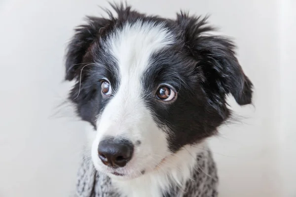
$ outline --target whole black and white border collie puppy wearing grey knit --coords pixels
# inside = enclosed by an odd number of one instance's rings
[[[230,117],[228,94],[252,101],[234,44],[206,18],[112,7],[75,29],[66,54],[69,99],[92,126],[76,196],[216,197],[206,139]]]

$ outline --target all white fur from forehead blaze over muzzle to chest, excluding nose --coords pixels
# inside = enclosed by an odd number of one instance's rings
[[[150,65],[150,55],[173,41],[173,34],[163,25],[140,22],[126,24],[108,39],[106,47],[119,66],[120,86],[98,118],[96,136],[91,137],[92,160],[96,169],[107,173],[128,197],[161,197],[161,189],[168,188],[171,181],[184,185],[195,164],[192,155],[200,151],[186,146],[176,155],[169,153],[168,136],[157,127],[141,97],[141,77]],[[116,170],[124,177],[112,175],[113,169],[98,158],[98,144],[106,136],[141,141],[140,146],[135,146],[132,160]],[[146,171],[144,175],[142,170]]]

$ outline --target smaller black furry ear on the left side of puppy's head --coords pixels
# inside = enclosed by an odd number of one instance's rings
[[[105,32],[111,20],[97,17],[87,17],[86,24],[75,29],[66,53],[66,80],[73,80],[78,76],[78,68],[87,51],[94,41]]]

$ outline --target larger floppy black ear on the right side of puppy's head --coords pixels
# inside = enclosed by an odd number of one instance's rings
[[[203,76],[201,84],[206,94],[219,105],[229,93],[238,104],[250,104],[253,84],[235,57],[233,42],[210,35],[215,28],[207,25],[207,17],[189,17],[181,12],[177,23],[184,31],[185,45],[197,61],[196,68]]]

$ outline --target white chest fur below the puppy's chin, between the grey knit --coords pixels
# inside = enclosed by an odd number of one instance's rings
[[[186,145],[182,150],[166,158],[152,172],[131,180],[112,180],[127,197],[162,197],[161,191],[168,191],[171,184],[177,184],[185,191],[185,182],[195,170],[197,153],[206,151],[206,143],[198,146]],[[192,180],[195,181],[195,180]]]

